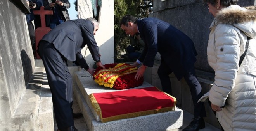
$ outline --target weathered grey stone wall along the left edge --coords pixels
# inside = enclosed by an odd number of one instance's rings
[[[25,0],[1,0],[0,8],[0,127],[18,130],[10,118],[35,69],[25,16],[29,7]]]

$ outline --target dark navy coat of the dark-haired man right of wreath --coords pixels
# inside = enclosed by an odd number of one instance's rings
[[[180,30],[157,18],[144,18],[137,22],[140,37],[145,48],[138,60],[152,67],[159,52],[165,62],[180,80],[184,73],[194,68],[197,52],[193,41]]]

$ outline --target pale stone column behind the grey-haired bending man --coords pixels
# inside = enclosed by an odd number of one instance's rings
[[[78,18],[93,17],[92,3],[90,0],[78,0]],[[99,12],[99,30],[96,32],[95,40],[99,46],[102,64],[114,62],[114,0],[102,0]],[[86,59],[89,67],[93,67],[94,60],[85,46],[81,53]]]

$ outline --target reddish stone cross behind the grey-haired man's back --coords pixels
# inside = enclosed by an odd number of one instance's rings
[[[45,15],[53,15],[52,10],[45,10],[45,7],[40,7],[40,10],[34,10],[34,15],[40,15],[41,19],[41,27],[38,27],[35,30],[35,39],[36,39],[36,50],[38,49],[39,40],[42,39],[42,37],[47,34],[51,29],[49,27],[46,27],[45,24]],[[36,59],[40,59],[39,54],[36,52]]]

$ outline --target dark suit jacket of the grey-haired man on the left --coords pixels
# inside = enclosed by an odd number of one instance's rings
[[[88,46],[94,61],[100,61],[99,47],[93,35],[94,25],[84,19],[69,20],[57,25],[44,35],[41,40],[54,44],[54,47],[68,60],[78,60],[82,68],[88,65],[81,54],[81,49]],[[40,40],[40,41],[41,41]]]

